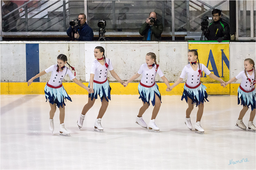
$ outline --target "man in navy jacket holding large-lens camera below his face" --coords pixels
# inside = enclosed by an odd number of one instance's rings
[[[91,41],[94,34],[92,28],[90,28],[89,25],[87,25],[86,23],[86,15],[84,13],[80,13],[78,15],[78,20],[80,21],[80,23],[78,23],[77,25],[73,25],[73,23],[77,22],[76,20],[74,22],[70,22],[70,27],[67,30],[67,35],[72,38],[73,33],[73,38],[75,38],[75,40]],[[71,26],[71,23],[73,26]]]

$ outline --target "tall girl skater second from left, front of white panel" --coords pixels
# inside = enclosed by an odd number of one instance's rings
[[[119,78],[117,73],[114,71],[110,59],[105,57],[105,50],[101,46],[97,46],[94,49],[95,61],[92,63],[91,75],[89,88],[92,91],[92,94],[89,94],[88,103],[83,107],[83,111],[78,118],[77,125],[79,129],[83,127],[83,120],[85,114],[91,109],[95,100],[98,98],[97,95],[101,98],[101,108],[99,110],[98,117],[94,123],[94,130],[97,132],[103,132],[103,127],[101,126],[101,118],[105,114],[108,108],[108,100],[110,98],[111,88],[108,82],[108,70],[111,75],[123,85],[123,81]],[[104,56],[104,57],[103,57]]]

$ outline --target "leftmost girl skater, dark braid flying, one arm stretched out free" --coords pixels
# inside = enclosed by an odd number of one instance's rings
[[[67,63],[67,56],[64,54],[60,54],[57,57],[57,63],[55,65],[52,65],[51,67],[47,68],[46,70],[42,71],[41,73],[37,74],[36,76],[32,77],[27,83],[28,86],[33,82],[34,79],[45,75],[46,73],[52,72],[51,78],[49,82],[45,85],[45,98],[46,101],[48,99],[51,110],[50,110],[50,125],[49,128],[51,132],[54,131],[54,123],[53,123],[53,117],[56,112],[56,105],[60,109],[60,135],[64,136],[70,136],[70,132],[66,130],[64,126],[64,118],[65,118],[65,106],[64,99],[71,100],[71,98],[68,96],[66,90],[62,86],[62,80],[64,79],[65,75],[68,74],[70,79],[73,80],[77,85],[81,86],[82,88],[89,91],[89,88],[83,85],[79,80],[73,76],[73,73],[71,70],[67,67],[65,67],[65,64]],[[68,64],[68,63],[67,63]],[[69,64],[68,64],[69,65]],[[71,67],[69,65],[69,67]],[[71,67],[72,70],[75,70],[74,67]],[[76,72],[75,72],[76,75]],[[89,92],[90,93],[90,92]],[[60,107],[61,106],[61,107]]]

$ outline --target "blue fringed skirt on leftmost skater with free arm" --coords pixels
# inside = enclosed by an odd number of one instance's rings
[[[64,104],[64,106],[66,106],[66,104],[64,103],[64,99],[70,100],[72,102],[71,98],[68,96],[68,94],[63,86],[60,88],[51,88],[51,87],[47,86],[47,84],[46,84],[45,85],[45,98],[46,98],[46,102],[48,99],[51,104],[56,103],[58,108],[60,108],[60,106],[63,107],[63,104]]]

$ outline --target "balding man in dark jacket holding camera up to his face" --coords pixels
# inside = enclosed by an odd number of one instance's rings
[[[155,22],[150,22],[151,17]],[[157,19],[157,14],[151,12],[146,22],[143,23],[142,27],[139,29],[139,34],[144,36],[142,41],[160,41],[163,30],[163,24]]]

